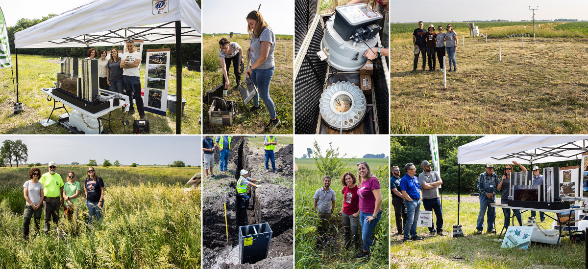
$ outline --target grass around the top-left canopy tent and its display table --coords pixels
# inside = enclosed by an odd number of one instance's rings
[[[16,60],[12,55],[13,63]],[[63,134],[68,133],[65,127],[56,123],[43,127],[39,122],[46,120],[53,109],[53,100],[49,102],[42,88],[54,87],[59,72],[59,58],[38,55],[19,55],[18,58],[18,79],[19,79],[19,101],[24,105],[24,113],[14,115],[12,103],[16,102],[16,93],[12,86],[12,73],[9,68],[0,70],[0,133],[29,133],[29,134]],[[176,94],[176,69],[170,66],[168,93]],[[15,68],[16,78],[16,68]],[[145,64],[141,65],[141,85],[145,87]],[[199,125],[201,113],[201,73],[182,69],[182,97],[186,100],[184,115],[182,117],[182,133],[201,133]],[[61,105],[61,103],[59,103]],[[59,106],[58,105],[58,106]],[[68,107],[68,111],[71,108]],[[51,116],[52,120],[58,120],[59,115],[65,113],[63,109],[58,110]],[[175,113],[167,112],[167,116],[159,116],[146,113],[149,119],[151,133],[175,133]],[[123,127],[119,118],[123,116],[121,110],[112,112],[112,129],[115,134],[131,133],[132,121],[139,119],[138,113],[127,117],[131,127]]]

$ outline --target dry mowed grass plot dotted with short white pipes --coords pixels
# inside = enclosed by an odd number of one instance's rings
[[[466,36],[465,48],[462,34],[469,31],[457,31],[457,72],[447,73],[447,89],[439,66],[436,72],[420,71],[421,58],[417,72],[410,73],[412,33],[392,35],[390,132],[585,133],[588,65],[580,52],[588,50],[588,36],[544,38],[542,31],[558,31],[553,24],[542,25],[537,43],[525,38],[524,48],[521,38],[497,38],[492,31],[528,32],[528,26],[490,28],[487,43]]]

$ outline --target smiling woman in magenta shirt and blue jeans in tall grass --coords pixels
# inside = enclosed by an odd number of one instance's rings
[[[359,181],[362,183],[359,190],[359,221],[362,224],[363,251],[355,255],[356,258],[369,257],[369,248],[372,246],[372,233],[382,217],[382,192],[380,182],[369,170],[365,161],[358,163]]]

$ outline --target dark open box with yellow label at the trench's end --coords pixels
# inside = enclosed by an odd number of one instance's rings
[[[239,227],[239,257],[241,264],[253,264],[268,257],[272,228],[268,223]]]

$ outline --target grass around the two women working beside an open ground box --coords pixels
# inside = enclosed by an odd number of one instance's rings
[[[206,92],[211,90],[217,85],[222,83],[222,69],[220,69],[219,61],[219,45],[218,41],[220,38],[229,38],[228,35],[205,35],[203,37],[203,53],[202,53],[202,65],[204,70],[203,75],[203,88]],[[249,48],[249,41],[246,39],[247,35],[233,35],[233,39],[229,39],[230,42],[237,42],[243,49],[243,57],[245,64],[246,50]],[[279,38],[279,40],[278,40]],[[286,55],[284,51],[286,50]],[[286,56],[286,59],[284,58]],[[272,133],[277,134],[291,134],[293,133],[293,91],[292,91],[292,61],[293,61],[293,45],[292,35],[276,35],[276,48],[274,51],[275,71],[273,73],[272,82],[269,87],[269,96],[272,97],[273,103],[276,107],[276,114],[282,121],[280,126],[273,130]],[[243,133],[243,134],[255,134],[261,133],[263,127],[269,122],[268,110],[263,105],[262,100],[259,100],[259,104],[262,106],[262,110],[258,112],[249,112],[253,102],[250,102],[247,106],[243,105],[239,90],[235,84],[235,69],[234,66],[230,66],[228,71],[229,76],[229,95],[225,97],[226,100],[234,100],[239,105],[239,114],[235,117],[233,126],[218,126],[211,125],[208,117],[208,104],[203,104],[203,133]],[[241,75],[241,80],[245,78],[245,74]]]

